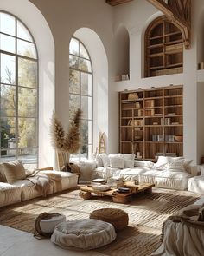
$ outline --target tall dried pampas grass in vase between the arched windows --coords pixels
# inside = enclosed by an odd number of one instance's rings
[[[61,125],[61,121],[53,114],[50,126],[51,142],[54,147],[61,154],[63,161],[63,171],[70,171],[69,166],[70,154],[77,153],[80,149],[80,120],[82,111],[80,108],[75,112],[73,121],[69,124],[68,131],[65,132]]]

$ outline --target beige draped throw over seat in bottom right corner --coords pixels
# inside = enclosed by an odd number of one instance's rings
[[[204,255],[204,205],[190,205],[163,223],[162,245],[153,256]]]

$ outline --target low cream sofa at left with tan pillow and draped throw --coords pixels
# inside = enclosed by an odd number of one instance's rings
[[[41,170],[28,172],[21,161],[0,164],[0,207],[77,187],[78,175]]]

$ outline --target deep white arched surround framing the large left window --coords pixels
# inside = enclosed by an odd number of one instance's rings
[[[54,110],[54,38],[40,10],[28,0],[1,0],[1,10],[21,19],[35,38],[39,55],[38,165],[54,166],[54,149],[50,145],[49,133],[50,117]]]

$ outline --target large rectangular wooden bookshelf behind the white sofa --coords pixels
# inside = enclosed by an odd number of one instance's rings
[[[135,99],[129,95],[136,94]],[[176,136],[176,137],[175,137]],[[183,89],[169,86],[119,92],[119,151],[140,159],[183,154]]]

